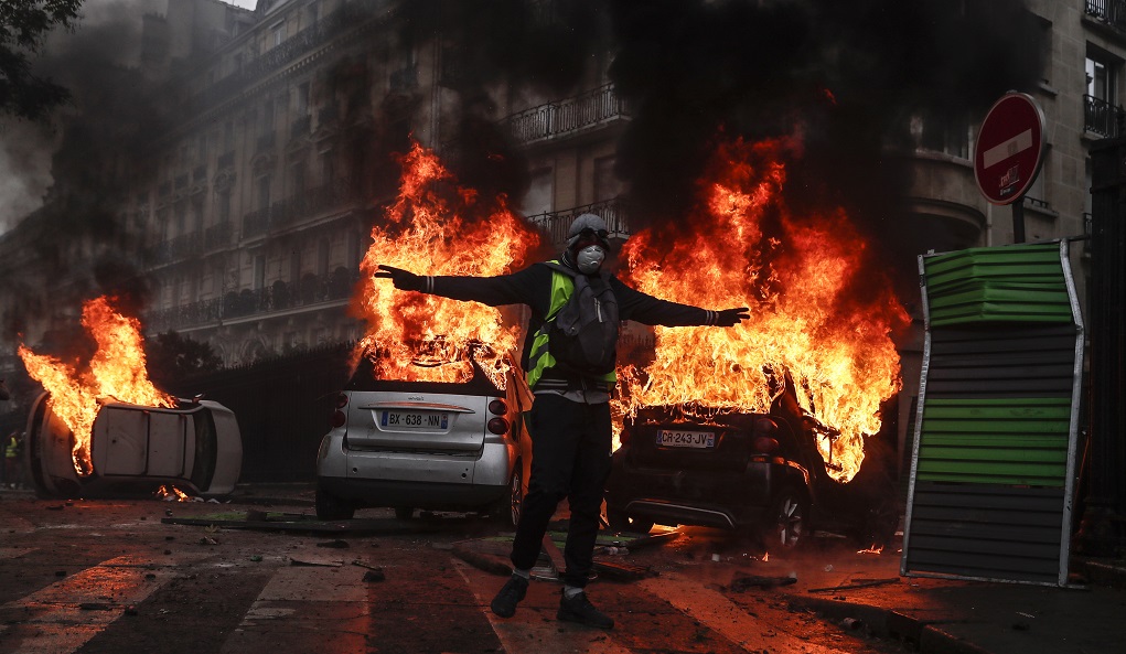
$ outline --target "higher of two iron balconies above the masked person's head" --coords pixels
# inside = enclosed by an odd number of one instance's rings
[[[548,102],[504,119],[513,141],[521,145],[571,135],[628,118],[625,102],[614,91],[614,84],[604,84],[593,91]]]

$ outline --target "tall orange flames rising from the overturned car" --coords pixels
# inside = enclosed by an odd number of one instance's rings
[[[82,326],[93,337],[97,351],[89,370],[79,374],[73,366],[36,355],[20,343],[18,352],[27,374],[48,393],[47,406],[74,434],[72,458],[79,476],[93,473],[90,437],[98,416],[99,402],[116,400],[145,406],[175,406],[176,401],[157,389],[145,370],[141,323],[126,317],[106,296],[82,305]]]

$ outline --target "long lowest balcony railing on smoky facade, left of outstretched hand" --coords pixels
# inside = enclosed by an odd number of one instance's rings
[[[221,320],[339,302],[351,296],[359,274],[337,268],[330,275],[305,275],[297,281],[277,280],[263,288],[230,290],[222,297],[200,299],[152,312],[145,322],[158,332],[182,330]]]

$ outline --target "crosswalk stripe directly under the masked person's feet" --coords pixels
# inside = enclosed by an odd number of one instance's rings
[[[501,618],[493,615],[489,609],[493,593],[500,590],[502,579],[495,575],[486,575],[462,561],[454,561],[457,572],[462,574],[465,584],[473,591],[473,595],[481,604],[481,610],[489,618],[493,631],[500,638],[507,654],[573,654],[574,652],[586,652],[588,654],[629,654],[632,649],[623,647],[611,638],[613,631],[604,631],[582,627],[580,625],[568,625],[555,619],[555,611],[558,608],[558,589],[553,584],[549,599],[542,592],[534,592],[538,589],[531,582],[533,588],[528,589],[528,597],[517,609],[516,616]],[[471,577],[472,573],[472,577]],[[535,594],[536,597],[533,597]],[[538,615],[535,615],[538,613]]]

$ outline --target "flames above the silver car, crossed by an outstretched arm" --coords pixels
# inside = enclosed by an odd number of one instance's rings
[[[456,186],[435,153],[418,143],[400,164],[399,197],[385,210],[384,224],[372,229],[372,245],[360,262],[354,307],[368,328],[355,356],[372,357],[379,378],[411,382],[468,380],[472,358],[503,388],[507,355],[517,351],[519,329],[504,326],[499,310],[396,290],[372,275],[379,265],[419,275],[502,275],[539,236],[503,196],[485,207],[476,191]],[[441,194],[440,187],[454,192]]]

